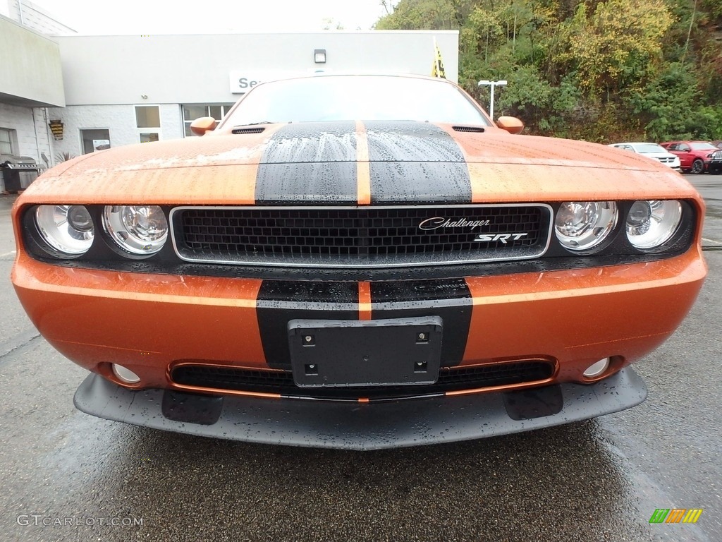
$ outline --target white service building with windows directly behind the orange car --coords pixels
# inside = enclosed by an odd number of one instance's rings
[[[430,74],[434,40],[447,77],[458,77],[458,33],[323,32],[59,36],[65,108],[56,150],[189,137],[199,116],[221,119],[249,88],[269,79],[324,72]]]

